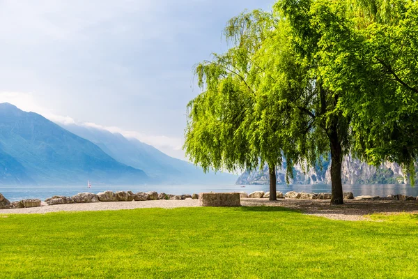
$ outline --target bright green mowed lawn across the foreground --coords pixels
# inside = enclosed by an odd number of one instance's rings
[[[418,216],[272,207],[0,215],[1,278],[418,278]]]

